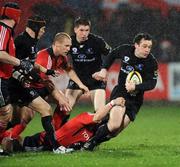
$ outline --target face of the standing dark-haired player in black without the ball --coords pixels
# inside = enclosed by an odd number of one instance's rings
[[[88,39],[90,33],[90,26],[80,25],[74,28],[76,39],[79,43],[84,42]]]

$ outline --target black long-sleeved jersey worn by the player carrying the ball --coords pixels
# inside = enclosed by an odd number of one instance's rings
[[[136,85],[138,98],[143,99],[144,91],[151,90],[157,83],[158,64],[155,57],[150,53],[147,58],[138,58],[134,55],[135,47],[133,45],[120,45],[112,50],[106,57],[102,68],[108,69],[115,59],[121,59],[121,69],[118,76],[118,92],[120,95],[126,97],[125,88],[126,77],[132,70],[138,71],[142,76],[142,84]]]

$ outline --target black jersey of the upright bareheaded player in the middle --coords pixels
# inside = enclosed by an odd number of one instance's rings
[[[104,39],[97,35],[89,34],[88,40],[83,43],[78,43],[76,36],[72,36],[70,57],[73,69],[80,78],[90,78],[101,69],[102,55],[107,55],[110,49]]]

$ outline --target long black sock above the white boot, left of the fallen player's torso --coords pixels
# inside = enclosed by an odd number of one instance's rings
[[[41,118],[42,126],[47,133],[48,139],[49,139],[50,143],[52,144],[53,149],[57,149],[59,147],[59,145],[56,141],[54,127],[53,127],[51,121],[52,121],[51,115]]]

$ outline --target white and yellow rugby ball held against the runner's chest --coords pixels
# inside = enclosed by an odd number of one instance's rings
[[[133,82],[136,85],[141,84],[142,83],[142,77],[141,74],[137,71],[131,71],[126,78],[126,82]]]

